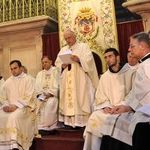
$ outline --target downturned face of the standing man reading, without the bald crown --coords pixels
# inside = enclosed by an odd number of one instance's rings
[[[76,37],[72,34],[69,34],[69,33],[64,34],[64,39],[69,46],[74,45],[76,42]]]

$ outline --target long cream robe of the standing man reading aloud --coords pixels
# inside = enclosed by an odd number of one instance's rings
[[[93,110],[98,74],[92,52],[85,43],[62,48],[56,59],[56,66],[61,68],[59,55],[68,49],[72,50],[72,55],[78,56],[80,63],[72,62],[71,70],[65,68],[61,74],[59,121],[72,127],[83,127]]]

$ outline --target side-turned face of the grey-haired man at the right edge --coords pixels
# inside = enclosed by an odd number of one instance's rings
[[[138,42],[136,39],[133,38],[130,39],[128,51],[131,52],[131,55],[137,59],[141,58],[143,52],[140,42]]]

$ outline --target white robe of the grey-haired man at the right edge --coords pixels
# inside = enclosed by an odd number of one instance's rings
[[[102,134],[132,145],[132,135],[138,122],[149,122],[150,116],[136,111],[145,104],[150,104],[150,59],[139,64],[136,72],[133,88],[126,98],[125,104],[129,105],[135,112],[127,112],[108,118],[101,130]]]

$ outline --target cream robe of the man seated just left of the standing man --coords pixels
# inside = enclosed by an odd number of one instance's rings
[[[36,76],[35,89],[37,95],[50,93],[53,96],[38,103],[38,129],[51,130],[57,128],[58,121],[58,87],[60,73],[58,68],[42,70]]]

